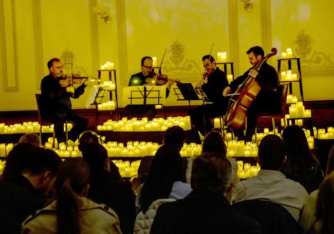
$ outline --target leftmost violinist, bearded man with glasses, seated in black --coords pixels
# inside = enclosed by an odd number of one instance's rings
[[[54,133],[58,142],[66,140],[64,122],[66,120],[73,121],[75,125],[69,131],[68,138],[76,141],[87,127],[88,119],[72,110],[70,98],[79,98],[85,91],[87,81],[78,88],[63,87],[60,80],[63,78],[64,66],[60,59],[51,59],[47,66],[50,74],[44,77],[41,82],[41,116],[43,120],[54,123]]]

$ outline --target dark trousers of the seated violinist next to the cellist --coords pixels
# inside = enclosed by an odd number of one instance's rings
[[[224,115],[222,107],[213,104],[200,105],[190,110],[190,120],[195,128],[205,136],[212,130],[210,118]]]

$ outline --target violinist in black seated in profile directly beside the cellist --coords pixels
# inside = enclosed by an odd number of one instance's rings
[[[222,91],[229,82],[226,74],[217,67],[212,56],[203,56],[202,62],[206,73],[198,81],[196,88],[202,89],[213,103],[201,105],[191,110],[190,119],[195,128],[205,136],[205,132],[208,133],[212,129],[210,118],[222,116],[227,110],[228,99],[222,96]]]

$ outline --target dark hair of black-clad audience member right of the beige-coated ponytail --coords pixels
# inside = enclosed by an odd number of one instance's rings
[[[82,153],[91,171],[103,170],[105,160],[108,158],[107,150],[99,143],[90,143]]]

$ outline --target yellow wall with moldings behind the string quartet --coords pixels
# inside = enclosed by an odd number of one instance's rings
[[[250,66],[249,47],[263,46],[266,53],[277,47],[279,54],[270,59],[274,67],[291,47],[301,58],[304,100],[333,100],[334,2],[250,3],[251,11],[237,0],[0,0],[0,111],[36,110],[34,93],[48,74],[46,63],[65,51],[73,53],[73,68],[83,76],[97,78],[100,65],[114,62],[121,99],[129,76],[140,71],[140,59],[155,56],[159,64],[166,47],[163,73],[195,83],[212,43],[213,56],[228,53],[235,76]],[[112,22],[105,24],[94,6],[110,7]],[[298,87],[293,91],[299,94]],[[73,107],[82,108],[86,96],[73,100]],[[171,95],[166,104],[187,103]]]

